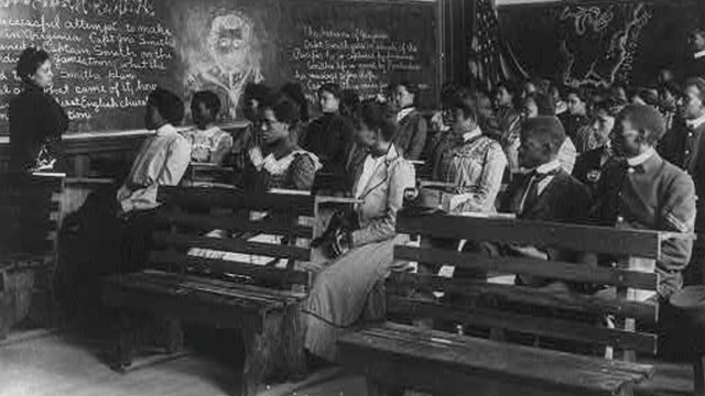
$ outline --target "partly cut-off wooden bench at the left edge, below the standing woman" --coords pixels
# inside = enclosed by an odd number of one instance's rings
[[[0,340],[33,317],[54,318],[53,275],[56,264],[64,176],[0,175]]]

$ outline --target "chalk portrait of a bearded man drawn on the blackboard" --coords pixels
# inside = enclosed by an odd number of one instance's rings
[[[225,99],[223,116],[235,119],[245,86],[263,79],[254,24],[241,12],[226,11],[214,15],[205,31],[200,51],[191,51],[185,57],[186,95],[215,91]]]

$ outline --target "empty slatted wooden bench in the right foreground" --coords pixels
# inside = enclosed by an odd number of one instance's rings
[[[650,260],[659,257],[664,238],[681,237],[444,215],[400,217],[398,231],[422,238],[543,245]],[[615,293],[588,295],[392,273],[386,285],[388,321],[339,340],[344,365],[366,375],[373,394],[403,387],[438,395],[464,395],[468,389],[478,395],[629,395],[654,372],[650,365],[633,362],[634,351],[657,352],[657,334],[646,329],[655,327],[658,305],[634,298],[637,289],[657,289],[654,273],[633,271],[627,264],[590,267],[409,245],[397,246],[394,256],[490,274],[605,285],[615,287]],[[420,285],[430,285],[446,296],[459,295],[460,302],[415,297],[411,292]],[[611,317],[617,326],[603,326],[605,317]],[[435,328],[446,331],[409,326],[414,318],[433,318]],[[474,336],[463,336],[456,329],[467,329]],[[605,359],[609,354],[606,349],[623,351],[625,361]]]

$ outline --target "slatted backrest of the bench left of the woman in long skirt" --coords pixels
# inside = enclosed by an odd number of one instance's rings
[[[148,266],[235,282],[308,287],[314,198],[227,188],[160,187]],[[217,235],[214,230],[219,230]]]

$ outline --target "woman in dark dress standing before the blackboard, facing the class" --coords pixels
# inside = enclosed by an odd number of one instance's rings
[[[10,170],[56,169],[68,117],[45,91],[54,78],[48,54],[33,47],[24,50],[17,73],[22,78],[23,90],[10,102]]]

